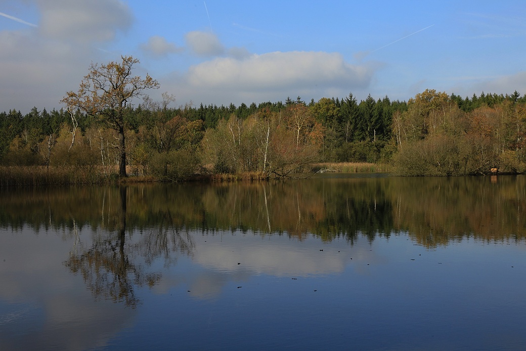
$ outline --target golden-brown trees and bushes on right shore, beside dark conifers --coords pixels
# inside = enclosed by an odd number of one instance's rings
[[[445,93],[426,90],[396,113],[398,172],[460,176],[526,170],[524,104],[509,99],[466,112]]]

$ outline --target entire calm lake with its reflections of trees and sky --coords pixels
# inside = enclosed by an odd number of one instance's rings
[[[523,350],[526,177],[0,188],[1,350]]]

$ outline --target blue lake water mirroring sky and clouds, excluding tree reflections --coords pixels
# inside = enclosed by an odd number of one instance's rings
[[[343,239],[190,235],[193,255],[180,254],[169,265],[164,257],[151,262],[147,270],[163,278],[153,287],[136,288],[135,308],[95,300],[82,279],[68,276],[64,255],[38,259],[35,250],[41,247],[26,246],[25,265],[9,281],[17,291],[6,298],[9,289],[0,290],[0,346],[474,350],[526,345],[523,243],[465,239],[426,249],[403,233],[372,243],[361,237],[353,246]],[[6,237],[11,250],[17,249],[16,239],[21,245],[43,239],[3,231],[1,238]],[[44,238],[57,246],[71,244],[52,234]],[[4,267],[4,284],[7,274]],[[31,286],[35,276],[42,279]]]

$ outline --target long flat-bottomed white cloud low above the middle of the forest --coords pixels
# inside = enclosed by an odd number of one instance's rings
[[[316,101],[343,98],[352,92],[365,99],[375,73],[382,67],[368,62],[352,65],[338,53],[274,52],[246,58],[221,57],[159,80],[180,103],[228,105],[285,101],[301,96]]]

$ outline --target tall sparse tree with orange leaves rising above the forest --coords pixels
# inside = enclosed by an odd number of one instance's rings
[[[145,79],[133,76],[132,71],[139,60],[131,56],[121,57],[122,62],[105,65],[92,63],[78,91],[67,92],[67,96],[60,102],[66,104],[69,110],[76,108],[93,115],[98,121],[117,131],[119,175],[126,177],[126,111],[133,98],[143,95],[146,89],[158,88],[159,83],[148,74]]]

